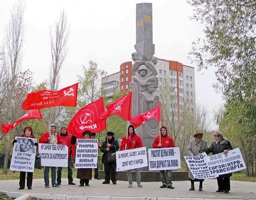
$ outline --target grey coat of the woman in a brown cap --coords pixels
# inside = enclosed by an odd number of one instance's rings
[[[202,139],[199,143],[195,139],[192,139],[189,141],[189,146],[187,147],[186,152],[188,156],[197,156],[199,152],[204,152],[207,148],[208,148],[207,141],[205,141],[204,139]],[[189,179],[195,180],[190,170],[189,170]],[[204,179],[198,179],[198,180],[204,180]]]

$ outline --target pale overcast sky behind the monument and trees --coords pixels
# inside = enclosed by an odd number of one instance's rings
[[[0,41],[16,0],[0,0]],[[186,0],[26,0],[23,69],[34,72],[34,81],[49,78],[51,62],[49,27],[62,9],[70,24],[68,54],[61,69],[61,87],[77,82],[82,65],[93,60],[108,74],[119,71],[121,63],[131,61],[136,43],[136,3],[152,3],[154,56],[175,60],[197,69],[188,58],[191,43],[203,37],[203,26],[189,19],[192,7]],[[212,88],[213,69],[195,70],[196,100],[212,112],[223,103]],[[215,129],[216,127],[212,127]]]

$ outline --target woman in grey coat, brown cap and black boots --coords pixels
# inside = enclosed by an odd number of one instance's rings
[[[207,141],[202,139],[203,133],[201,131],[195,131],[194,133],[194,138],[189,141],[189,146],[186,149],[187,155],[188,156],[198,156],[202,152],[204,152],[207,149]],[[197,179],[193,177],[193,174],[189,170],[189,180],[191,181],[191,190],[195,190],[194,182],[199,181],[199,191],[203,191],[203,181],[204,179]]]

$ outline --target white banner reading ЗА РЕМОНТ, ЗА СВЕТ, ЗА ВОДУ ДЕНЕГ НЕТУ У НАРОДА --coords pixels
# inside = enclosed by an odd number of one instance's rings
[[[148,166],[146,147],[116,151],[116,171]]]

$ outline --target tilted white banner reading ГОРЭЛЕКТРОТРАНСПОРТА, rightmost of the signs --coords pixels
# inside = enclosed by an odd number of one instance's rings
[[[227,154],[220,153],[206,157],[210,175],[221,175],[246,169],[239,148],[229,150]]]

